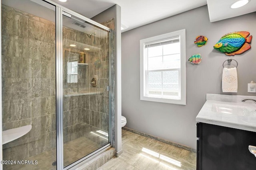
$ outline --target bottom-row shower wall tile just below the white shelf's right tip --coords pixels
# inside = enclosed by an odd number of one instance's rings
[[[46,150],[50,150],[51,145],[51,133],[39,135],[30,139],[28,143],[29,156],[40,154]]]

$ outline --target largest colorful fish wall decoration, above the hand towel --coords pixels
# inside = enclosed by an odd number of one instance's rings
[[[227,33],[216,43],[213,48],[226,55],[242,54],[251,48],[252,35],[247,31]]]

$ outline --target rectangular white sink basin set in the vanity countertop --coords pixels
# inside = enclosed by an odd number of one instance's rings
[[[226,113],[238,116],[250,116],[253,111],[249,111],[244,106],[227,105],[227,104],[212,104],[212,111],[217,113]],[[256,113],[254,111],[254,113]]]

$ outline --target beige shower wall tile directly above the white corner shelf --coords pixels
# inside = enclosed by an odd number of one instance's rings
[[[3,123],[28,119],[28,100],[6,100],[3,101],[2,109]]]

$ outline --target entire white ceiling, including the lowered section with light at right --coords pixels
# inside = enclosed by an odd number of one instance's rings
[[[92,18],[110,8],[114,4],[121,6],[122,30],[152,23],[182,12],[208,5],[210,21],[224,20],[256,11],[256,0],[242,8],[231,9],[230,5],[237,0],[67,0],[60,2],[52,0],[70,10],[78,12],[87,18]]]

